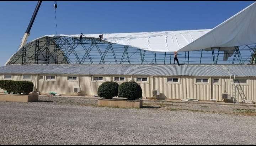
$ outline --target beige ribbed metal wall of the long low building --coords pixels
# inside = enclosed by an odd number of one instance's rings
[[[54,75],[55,80],[38,80],[37,75],[31,75],[31,81],[41,94],[57,92],[62,95],[77,95],[73,92],[74,87],[81,87],[80,95],[95,96],[98,87],[102,82],[114,81],[114,77],[125,77],[124,81],[136,81],[137,77],[148,77],[146,82],[137,82],[142,88],[143,97],[153,97],[152,90],[160,90],[159,99],[186,99],[198,100],[217,99],[222,101],[222,93],[231,93],[229,77],[200,77],[208,79],[208,83],[196,83],[197,77],[178,76],[178,83],[167,83],[167,76],[108,76],[104,75],[103,81],[93,81],[93,77],[88,75],[77,76],[76,81],[68,81],[68,75]],[[0,75],[0,80],[4,75]],[[213,79],[219,79],[219,83],[213,83]],[[239,78],[238,78],[239,79]],[[12,80],[21,81],[22,75],[12,74]],[[120,85],[122,81],[117,81]],[[256,101],[256,78],[247,78],[247,83],[241,83],[237,92],[238,99],[251,99]],[[0,89],[0,92],[4,90]]]

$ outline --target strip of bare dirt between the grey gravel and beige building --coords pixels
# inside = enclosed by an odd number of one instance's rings
[[[54,102],[56,104],[70,104],[80,106],[97,106],[95,97],[65,97],[65,96],[39,96],[39,101]],[[205,102],[175,102],[163,100],[143,100],[143,108],[155,108],[156,110],[187,110],[190,112],[235,114],[256,116],[256,104],[222,104]]]

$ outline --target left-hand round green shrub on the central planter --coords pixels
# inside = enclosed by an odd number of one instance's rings
[[[118,83],[104,82],[98,87],[98,96],[106,99],[112,99],[118,95]]]

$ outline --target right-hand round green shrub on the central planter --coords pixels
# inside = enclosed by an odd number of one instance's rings
[[[142,88],[134,81],[123,82],[118,87],[118,97],[125,97],[134,100],[142,97]]]

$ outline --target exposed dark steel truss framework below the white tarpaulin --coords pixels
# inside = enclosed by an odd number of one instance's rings
[[[173,64],[173,59],[173,52],[151,52],[97,38],[58,36],[33,40],[7,64]],[[256,64],[256,44],[236,46],[228,52],[221,48],[179,52],[178,60],[180,64]]]

